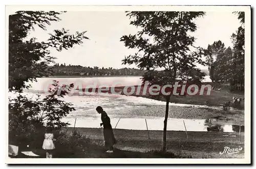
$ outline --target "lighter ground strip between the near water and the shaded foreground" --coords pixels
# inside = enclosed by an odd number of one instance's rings
[[[96,144],[103,144],[102,129],[77,128],[80,134],[87,135]],[[68,128],[72,131],[72,128]],[[118,143],[115,148],[127,151],[147,152],[161,150],[162,131],[123,130],[114,131]],[[183,131],[167,131],[167,151],[180,155],[190,155],[193,158],[244,158],[244,150],[236,154],[224,153],[224,147],[244,149],[244,133],[227,132],[188,132],[188,138]]]

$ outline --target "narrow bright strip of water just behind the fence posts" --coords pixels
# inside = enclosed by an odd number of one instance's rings
[[[111,118],[111,124],[117,129],[129,129],[129,130],[146,130],[146,123],[148,130],[163,130],[164,118],[156,119],[143,119],[143,118]],[[74,126],[74,118],[65,118],[65,122],[69,122],[70,127]],[[184,122],[183,122],[184,121]],[[118,123],[119,122],[119,123]],[[78,118],[76,120],[76,127],[85,128],[99,128],[101,123],[100,118]],[[118,123],[118,124],[117,124]],[[221,125],[215,119],[173,119],[170,118],[167,121],[168,131],[216,131],[216,132],[244,132],[244,126],[239,125]]]

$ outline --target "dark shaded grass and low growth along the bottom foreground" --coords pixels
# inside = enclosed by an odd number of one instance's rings
[[[105,148],[102,145],[97,144],[97,141],[90,139],[83,134],[79,134],[78,132],[72,133],[61,131],[56,134],[56,138],[56,149],[53,151],[54,158],[191,158],[191,156],[181,156],[172,152],[163,152],[159,150],[138,152],[115,148],[114,153],[109,154],[105,153]],[[39,139],[37,139],[37,141],[38,140]],[[40,144],[36,145],[35,143],[29,142],[23,144],[24,145],[20,146],[22,149],[19,150],[18,156],[12,156],[12,158],[45,158],[45,150],[40,148]],[[28,148],[27,145],[33,146],[29,146]],[[20,153],[22,151],[32,151],[39,155],[39,157],[26,156]]]

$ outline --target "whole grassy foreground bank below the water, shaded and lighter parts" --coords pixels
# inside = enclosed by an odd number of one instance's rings
[[[187,132],[187,138],[184,131],[167,131],[167,153],[163,153],[162,131],[147,133],[144,130],[116,129],[114,134],[118,143],[114,146],[114,153],[108,154],[103,147],[102,129],[76,128],[76,131],[72,134],[73,128],[66,128],[55,133],[54,158],[244,158],[244,150],[236,154],[219,154],[226,146],[244,149],[244,133],[241,133],[240,141],[239,133]],[[45,158],[42,141],[42,137],[38,137],[36,144],[29,148],[26,145],[30,143],[23,143],[19,151],[32,151],[39,155],[34,158]],[[29,156],[19,153],[15,158]]]

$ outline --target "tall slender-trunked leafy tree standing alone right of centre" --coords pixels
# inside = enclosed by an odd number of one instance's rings
[[[195,19],[204,12],[127,12],[131,25],[138,28],[135,35],[124,35],[120,41],[128,48],[137,49],[133,55],[126,56],[123,64],[135,64],[145,69],[143,81],[151,85],[174,84],[177,72],[180,78],[190,77],[198,72],[196,64],[205,64],[202,57],[205,50],[195,47]],[[191,48],[196,50],[191,51]],[[156,71],[161,69],[162,71]],[[201,76],[201,74],[199,74]],[[163,128],[163,150],[166,151],[166,129],[170,95],[166,96],[166,110]]]

